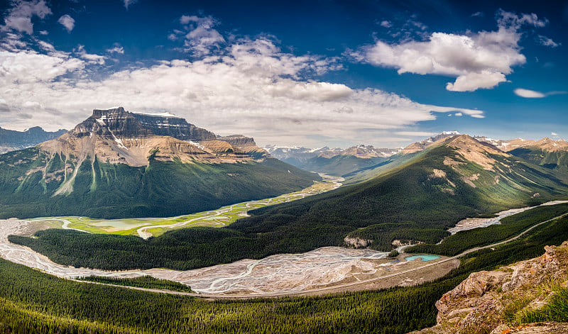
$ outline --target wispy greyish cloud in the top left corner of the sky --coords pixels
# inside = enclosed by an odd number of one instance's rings
[[[8,11],[6,18],[4,18],[5,26],[1,27],[3,30],[13,29],[31,35],[33,33],[31,18],[33,16],[45,18],[45,16],[51,13],[51,9],[45,4],[45,0],[16,0],[12,4],[13,7]]]

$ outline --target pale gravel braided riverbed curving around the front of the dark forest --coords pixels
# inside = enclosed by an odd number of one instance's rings
[[[558,202],[550,202],[542,206],[552,207],[559,204]],[[559,206],[559,208],[564,210],[564,206]],[[92,275],[133,278],[150,275],[156,279],[167,279],[187,284],[196,292],[196,294],[188,294],[192,296],[217,299],[310,296],[340,291],[386,289],[393,286],[429,282],[443,277],[452,269],[456,269],[459,266],[458,259],[460,257],[510,243],[543,224],[557,221],[566,214],[568,213],[563,213],[546,221],[536,221],[530,228],[523,230],[513,238],[484,247],[473,247],[453,257],[409,256],[403,252],[403,249],[408,246],[401,246],[398,247],[401,254],[398,255],[396,260],[393,260],[386,258],[386,252],[322,247],[306,253],[272,255],[260,260],[240,260],[227,265],[183,272],[157,268],[108,272],[100,269],[58,265],[28,247],[9,243],[7,238],[8,235],[31,235],[37,230],[53,226],[55,221],[19,221],[12,219],[0,222],[0,257],[62,278],[72,279]],[[416,257],[417,260],[415,260]],[[427,261],[426,264],[423,264],[425,261]]]

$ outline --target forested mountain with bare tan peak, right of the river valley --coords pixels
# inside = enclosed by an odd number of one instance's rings
[[[345,239],[391,250],[393,240],[437,242],[463,218],[565,197],[568,191],[564,174],[469,135],[437,140],[409,156],[366,182],[251,211],[253,216],[231,228],[272,235],[272,245],[285,252],[341,245]]]

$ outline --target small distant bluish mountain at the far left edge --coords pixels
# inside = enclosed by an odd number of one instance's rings
[[[0,155],[38,145],[39,143],[45,142],[45,140],[57,138],[65,132],[67,132],[67,130],[64,129],[48,132],[39,126],[34,126],[25,131],[0,128]]]

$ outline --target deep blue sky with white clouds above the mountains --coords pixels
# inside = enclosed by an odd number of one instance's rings
[[[567,1],[0,0],[0,126],[168,111],[263,146],[568,138]]]

